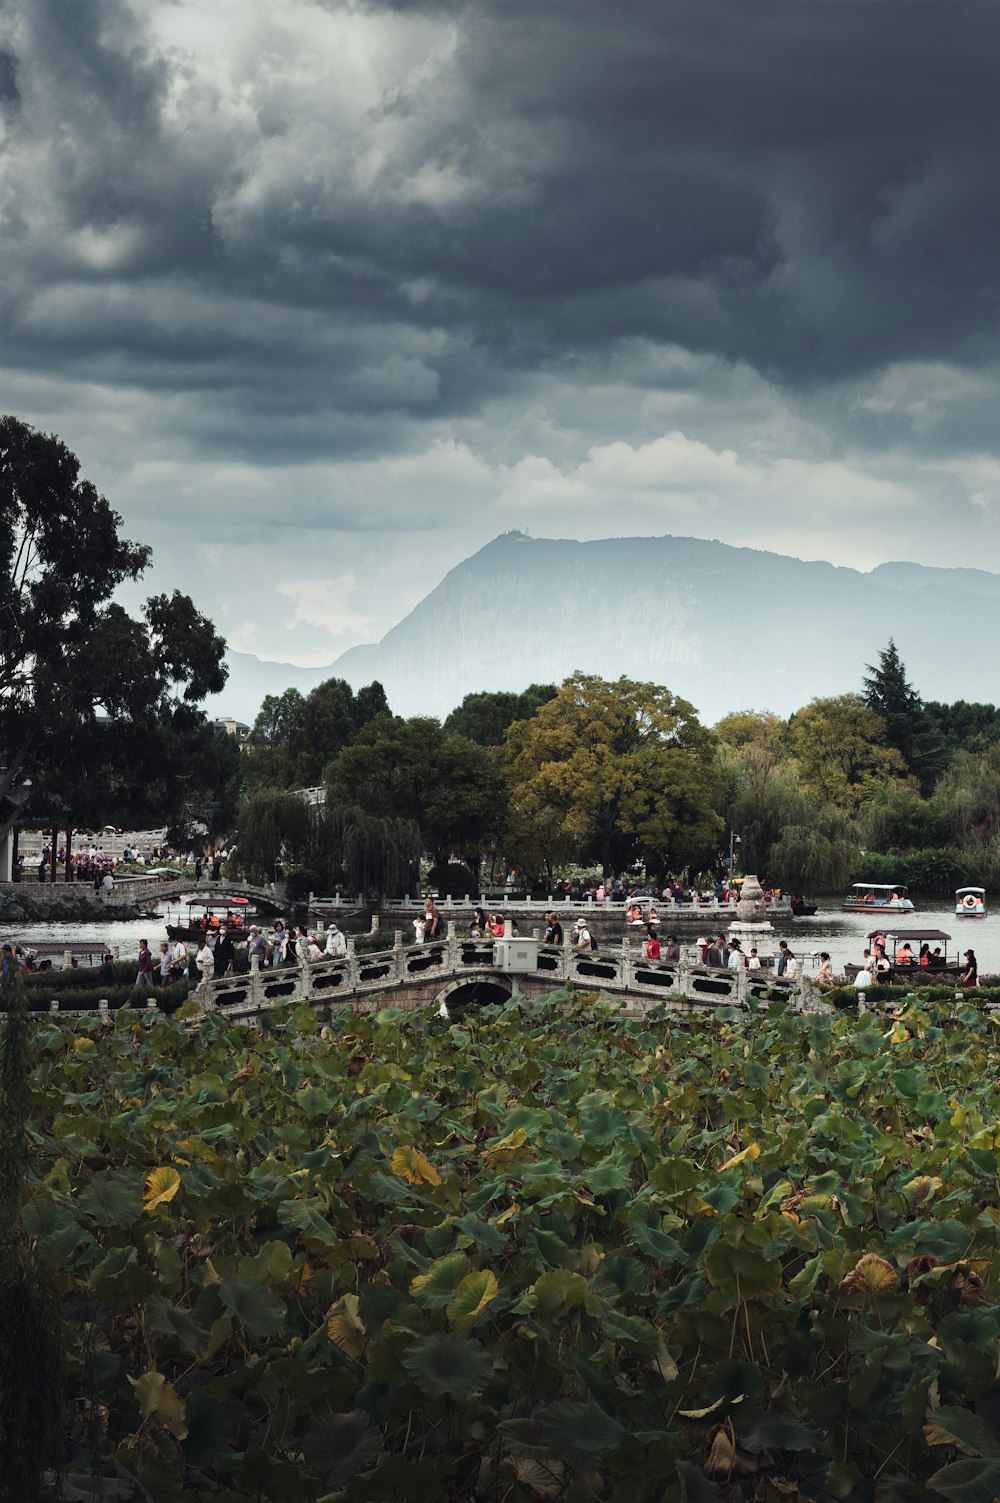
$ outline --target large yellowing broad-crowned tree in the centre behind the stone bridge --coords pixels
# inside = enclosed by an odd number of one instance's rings
[[[510,854],[528,864],[519,842],[532,831],[549,867],[567,848],[606,875],[636,858],[657,872],[701,861],[722,830],[713,750],[693,706],[669,690],[574,673],[507,730]]]

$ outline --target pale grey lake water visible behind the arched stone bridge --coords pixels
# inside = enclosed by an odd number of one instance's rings
[[[818,962],[812,956],[818,950],[830,953],[836,972],[841,972],[847,962],[860,963],[863,957],[868,932],[875,927],[877,920],[871,914],[842,914],[835,903],[832,899],[829,905],[821,905],[814,918],[792,918],[774,926],[774,944],[777,939],[786,939],[806,974],[817,968]],[[177,908],[161,909],[156,918],[129,918],[122,923],[95,918],[87,923],[18,924],[14,932],[3,935],[3,939],[29,947],[59,944],[77,950],[87,948],[89,942],[95,951],[105,945],[117,945],[125,960],[138,953],[140,939],[147,939],[153,954],[158,953],[159,941],[167,938],[164,926],[168,915],[174,923]],[[534,917],[531,923],[522,923],[522,933],[531,932],[534,923]],[[974,950],[982,974],[1000,974],[1000,912],[988,914],[985,918],[958,918],[950,903],[917,903],[914,914],[901,915],[899,929],[941,929],[952,936],[947,944],[949,956],[956,950]],[[405,924],[403,935],[406,939],[411,938]],[[57,956],[54,959],[60,963]]]

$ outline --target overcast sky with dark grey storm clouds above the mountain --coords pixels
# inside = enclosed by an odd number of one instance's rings
[[[269,658],[508,528],[1000,570],[998,83],[997,0],[0,0],[0,409]]]

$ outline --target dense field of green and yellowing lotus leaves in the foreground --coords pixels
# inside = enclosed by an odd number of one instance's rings
[[[989,1503],[1000,1015],[953,1007],[36,1024],[63,1497]]]

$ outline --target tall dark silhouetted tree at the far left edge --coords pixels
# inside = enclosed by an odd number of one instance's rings
[[[78,475],[59,439],[0,419],[0,795],[30,770],[29,812],[66,828],[111,807],[170,818],[211,738],[197,706],[226,684],[226,643],[179,591],[138,618],[110,598],[149,550]]]

